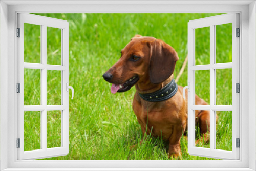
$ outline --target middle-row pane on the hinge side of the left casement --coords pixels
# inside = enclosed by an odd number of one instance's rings
[[[41,70],[24,69],[24,105],[41,105]]]

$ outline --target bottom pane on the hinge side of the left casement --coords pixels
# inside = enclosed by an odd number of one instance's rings
[[[41,112],[24,112],[24,151],[41,149]]]

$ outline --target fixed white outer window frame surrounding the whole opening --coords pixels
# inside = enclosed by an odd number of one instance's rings
[[[0,169],[7,170],[255,170],[255,1],[1,1]],[[63,4],[62,4],[63,3]],[[73,5],[71,5],[73,4]],[[28,13],[240,13],[240,160],[222,161],[18,161],[16,149],[16,14]],[[174,42],[175,43],[175,42]],[[6,74],[7,73],[7,74]],[[249,92],[250,90],[250,92]],[[249,135],[250,134],[250,135]],[[71,168],[72,167],[72,168]],[[61,169],[62,168],[62,169]],[[70,168],[70,169],[68,169]],[[183,169],[181,169],[183,168]],[[201,168],[201,169],[200,169]],[[126,169],[127,170],[127,169]]]

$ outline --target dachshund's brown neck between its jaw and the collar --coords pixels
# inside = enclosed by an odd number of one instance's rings
[[[165,81],[159,83],[159,84],[153,84],[150,82],[150,79],[147,79],[146,82],[138,82],[135,85],[135,88],[138,93],[145,94],[145,93],[153,93],[155,91],[158,91],[162,89],[164,86],[166,86],[172,79],[174,78],[174,75],[172,74],[168,79]]]

